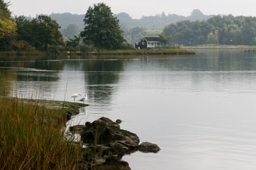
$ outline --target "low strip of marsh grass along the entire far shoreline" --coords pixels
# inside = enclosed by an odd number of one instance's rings
[[[191,51],[192,50],[192,51]],[[194,50],[243,50],[256,51],[256,45],[194,45],[175,48],[152,48],[148,50],[98,50],[98,51],[0,51],[1,55],[195,55]]]

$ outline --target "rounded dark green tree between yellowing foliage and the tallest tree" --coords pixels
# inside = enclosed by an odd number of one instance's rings
[[[49,45],[65,45],[59,24],[47,15],[39,15],[31,21],[34,36],[33,46],[41,50],[47,50]]]

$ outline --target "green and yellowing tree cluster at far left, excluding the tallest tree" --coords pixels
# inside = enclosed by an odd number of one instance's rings
[[[9,2],[0,0],[0,51],[49,50],[65,45],[59,24],[47,15],[31,21],[24,16],[12,17]]]

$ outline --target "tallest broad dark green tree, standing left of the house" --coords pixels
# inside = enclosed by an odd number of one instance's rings
[[[96,48],[115,50],[121,48],[125,41],[121,36],[122,31],[119,20],[113,17],[110,7],[104,3],[89,6],[85,14],[85,27],[81,32],[85,44],[94,44]]]

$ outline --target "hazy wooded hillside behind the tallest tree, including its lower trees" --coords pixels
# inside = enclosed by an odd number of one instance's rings
[[[55,19],[60,25],[60,32],[66,40],[72,39],[74,35],[78,36],[79,32],[84,29],[84,15],[65,12],[63,14],[53,13],[50,17]],[[123,37],[127,43],[133,45],[142,37],[157,37],[169,24],[185,20],[203,21],[214,17],[214,15],[204,15],[199,9],[194,9],[188,17],[176,14],[167,15],[165,12],[154,16],[143,16],[140,19],[133,19],[125,12],[114,14],[113,17],[119,19],[119,25],[121,30],[123,30]],[[27,17],[27,19],[32,20],[33,18]]]

